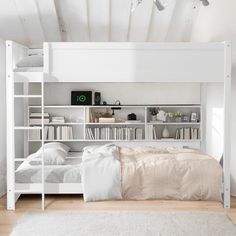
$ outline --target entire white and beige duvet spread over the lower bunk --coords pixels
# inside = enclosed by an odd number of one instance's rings
[[[220,164],[193,149],[87,147],[82,183],[85,201],[222,200]]]

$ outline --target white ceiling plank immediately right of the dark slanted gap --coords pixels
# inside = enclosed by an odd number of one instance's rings
[[[58,14],[63,19],[67,41],[89,41],[86,0],[57,0]]]

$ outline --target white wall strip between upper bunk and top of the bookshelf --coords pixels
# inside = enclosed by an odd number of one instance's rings
[[[48,83],[45,103],[70,104],[72,90],[101,92],[102,101],[110,104],[115,100],[120,100],[121,104],[200,103],[198,83]]]

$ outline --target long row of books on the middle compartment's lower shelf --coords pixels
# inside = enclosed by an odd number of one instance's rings
[[[86,128],[86,139],[89,140],[142,140],[141,128]]]

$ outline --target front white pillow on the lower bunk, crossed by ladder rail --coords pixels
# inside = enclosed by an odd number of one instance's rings
[[[31,154],[28,157],[29,164],[41,165],[41,161],[37,161],[38,158],[42,158],[42,151],[38,150],[36,153]],[[63,165],[67,154],[59,149],[47,148],[44,149],[44,165]]]

